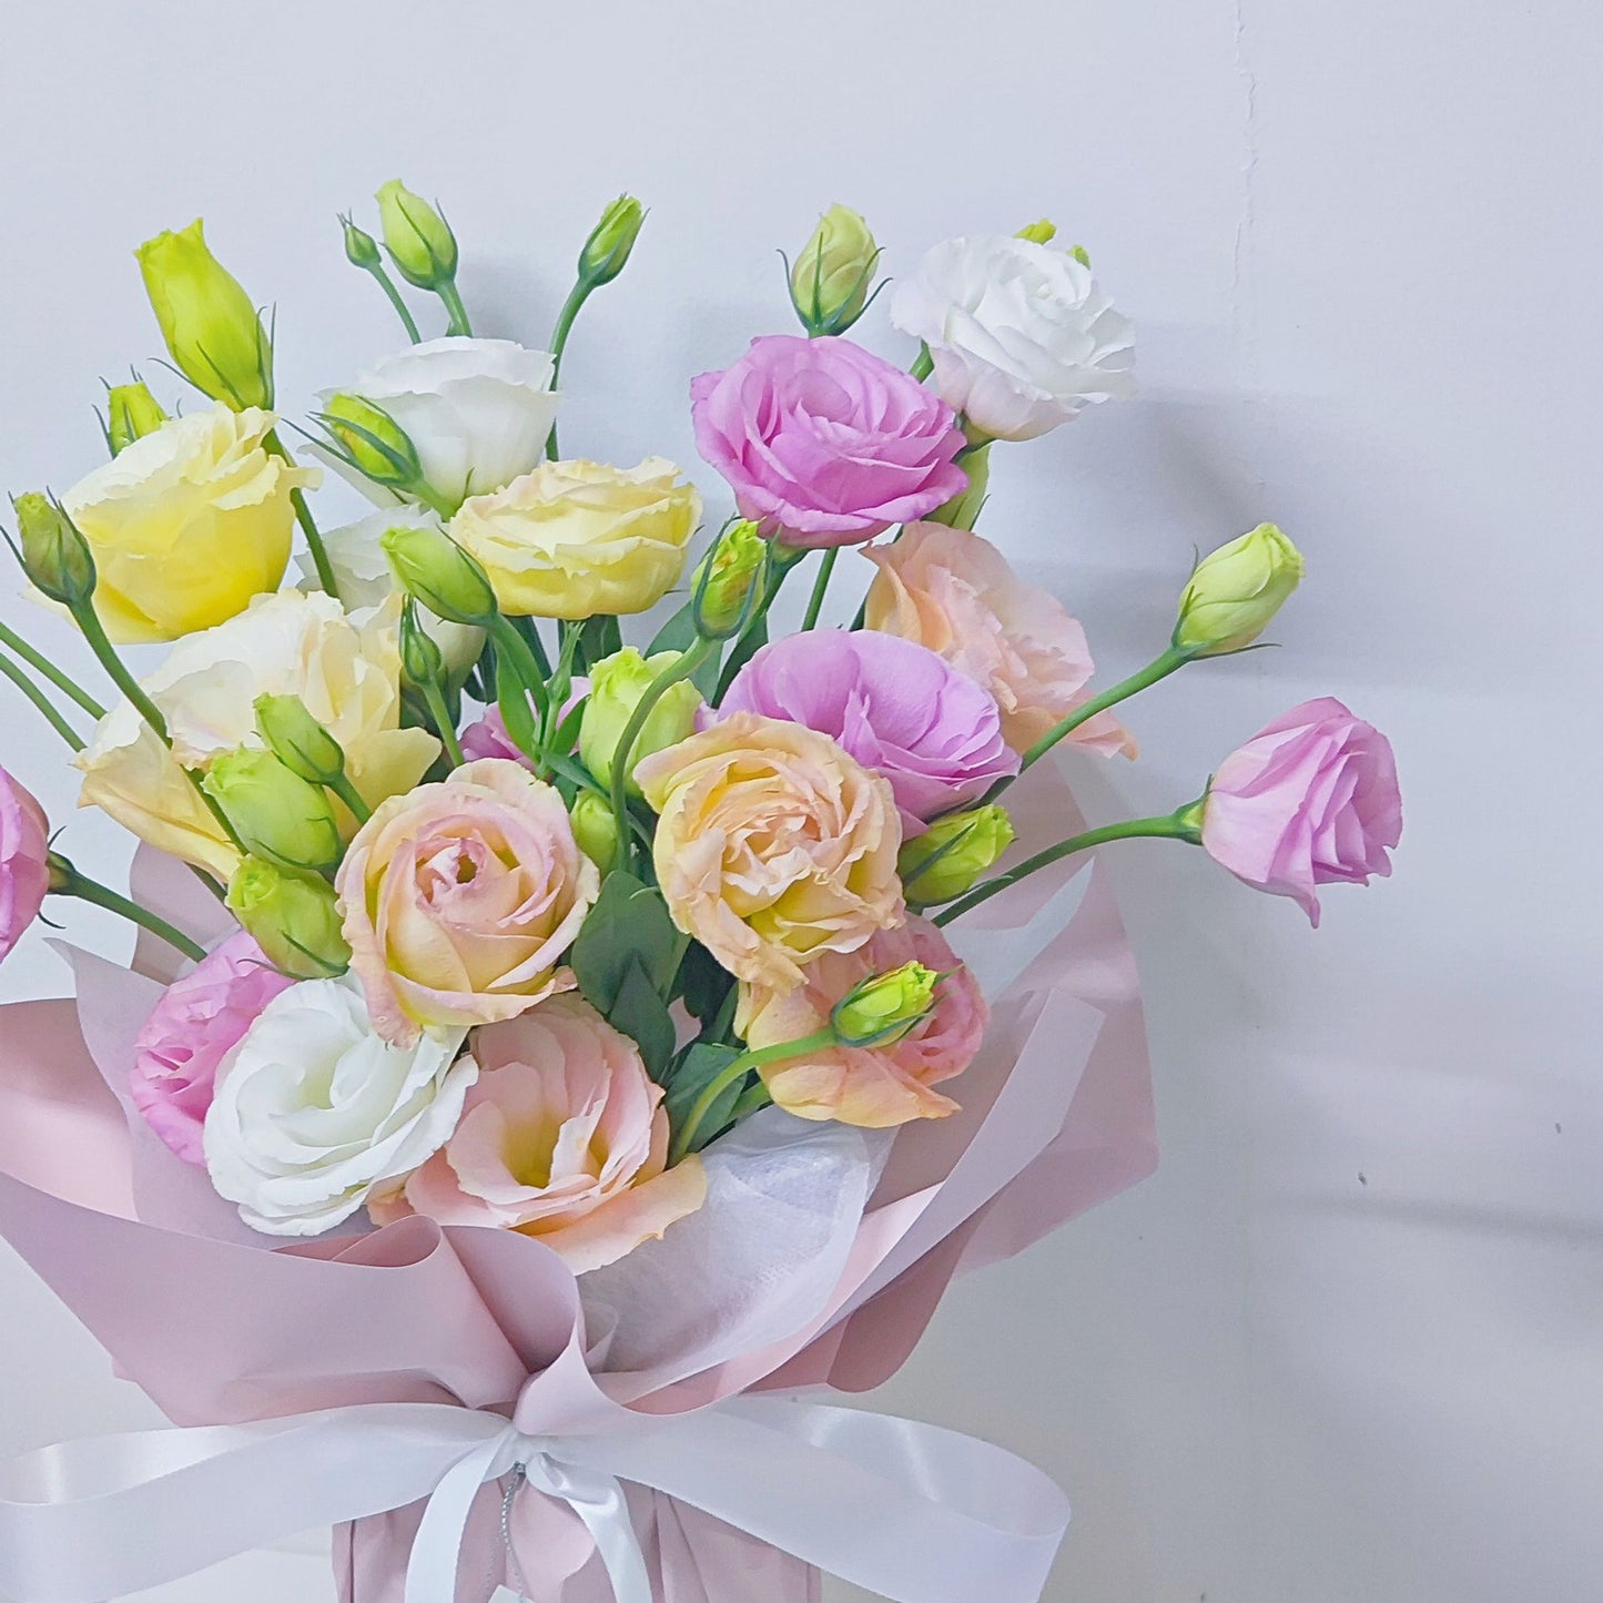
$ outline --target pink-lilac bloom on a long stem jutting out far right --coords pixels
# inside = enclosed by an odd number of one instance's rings
[[[1391,742],[1335,697],[1303,702],[1220,763],[1202,845],[1239,880],[1290,896],[1319,923],[1319,885],[1391,872],[1403,835]]]

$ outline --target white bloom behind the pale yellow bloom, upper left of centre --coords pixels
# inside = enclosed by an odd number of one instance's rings
[[[430,489],[452,507],[489,495],[545,458],[561,396],[548,351],[447,335],[386,356],[345,388],[388,412],[417,447]],[[340,466],[332,454],[317,455]],[[340,468],[380,505],[386,489]]]

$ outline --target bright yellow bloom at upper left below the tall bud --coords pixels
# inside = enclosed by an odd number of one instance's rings
[[[290,492],[322,474],[268,452],[276,422],[221,402],[170,418],[63,495],[95,553],[95,608],[112,640],[178,640],[279,587]]]

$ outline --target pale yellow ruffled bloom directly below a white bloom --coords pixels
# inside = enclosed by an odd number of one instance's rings
[[[638,468],[547,462],[463,502],[450,532],[505,612],[585,619],[644,612],[684,571],[701,495],[662,457]]]

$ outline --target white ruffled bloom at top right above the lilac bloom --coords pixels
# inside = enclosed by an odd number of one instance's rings
[[[949,239],[896,285],[891,322],[923,340],[935,386],[994,439],[1034,439],[1135,391],[1135,329],[1090,268],[1007,236]]]

